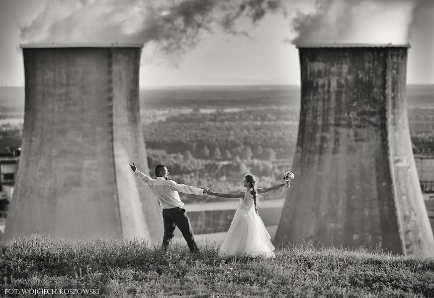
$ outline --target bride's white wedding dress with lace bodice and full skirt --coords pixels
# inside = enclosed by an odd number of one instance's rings
[[[275,258],[270,239],[270,234],[255,211],[253,195],[245,191],[218,255],[223,259],[233,256]]]

